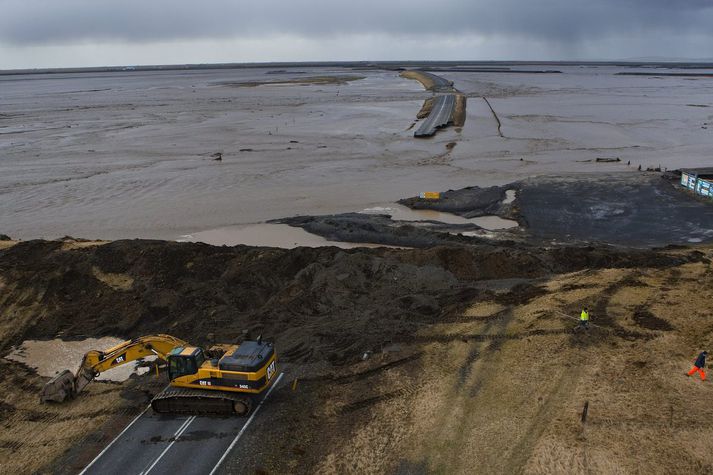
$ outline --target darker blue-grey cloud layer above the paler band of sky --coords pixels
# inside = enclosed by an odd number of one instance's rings
[[[292,34],[462,34],[563,43],[708,35],[711,0],[0,0],[0,42],[150,42]],[[388,47],[388,45],[385,45]]]

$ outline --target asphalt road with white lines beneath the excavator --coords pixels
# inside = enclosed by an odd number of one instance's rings
[[[243,434],[259,417],[263,402],[280,384],[280,374],[249,417],[169,416],[147,409],[81,472],[90,474],[212,474],[240,450]]]

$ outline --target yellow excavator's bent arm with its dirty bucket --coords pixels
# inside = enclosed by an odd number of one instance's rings
[[[52,378],[43,388],[40,400],[63,402],[73,399],[104,371],[152,355],[165,360],[171,350],[187,345],[179,338],[159,334],[127,340],[104,351],[90,350],[84,354],[76,373],[66,369]]]

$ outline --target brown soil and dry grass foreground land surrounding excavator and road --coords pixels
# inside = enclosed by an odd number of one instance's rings
[[[5,242],[3,354],[56,337],[165,332],[205,344],[209,333],[232,341],[247,330],[273,339],[297,384],[271,398],[266,443],[241,469],[713,467],[704,404],[713,389],[683,375],[713,332],[710,247]],[[576,334],[582,305],[594,326]],[[43,406],[45,378],[0,365],[0,456],[12,472],[81,468],[165,384],[152,375],[95,382],[66,406]]]

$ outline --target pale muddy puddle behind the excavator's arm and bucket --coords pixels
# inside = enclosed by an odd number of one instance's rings
[[[113,337],[87,338],[82,341],[27,340],[22,342],[19,347],[13,348],[5,358],[34,368],[40,376],[52,377],[65,369],[75,373],[79,365],[82,364],[82,358],[87,351],[106,350],[123,341]],[[155,358],[153,356],[145,360],[151,361]],[[132,374],[144,374],[149,371],[149,368],[138,368],[137,363],[132,362],[112,368],[106,373],[100,374],[96,380],[125,381]]]

